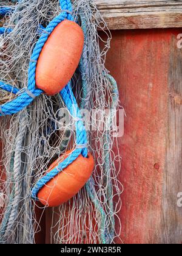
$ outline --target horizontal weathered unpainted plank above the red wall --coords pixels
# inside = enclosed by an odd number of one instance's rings
[[[109,29],[182,27],[182,1],[94,0]]]

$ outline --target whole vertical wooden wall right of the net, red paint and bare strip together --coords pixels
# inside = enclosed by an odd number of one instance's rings
[[[113,32],[107,68],[127,118],[120,138],[124,243],[181,243],[181,29]]]

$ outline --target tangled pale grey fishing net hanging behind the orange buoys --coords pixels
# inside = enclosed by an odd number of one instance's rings
[[[42,27],[59,14],[59,2],[20,0],[1,1],[1,5],[11,6],[13,12],[1,20],[10,33],[0,35],[0,81],[22,89],[27,87],[33,48]],[[43,207],[32,200],[32,187],[50,163],[75,147],[74,116],[66,109],[60,94],[52,97],[42,94],[16,115],[2,116],[0,243],[36,243],[35,234],[43,228],[40,222],[44,214],[50,220],[46,228],[49,243],[121,242],[118,213],[123,187],[118,181],[121,157],[113,122],[120,104],[116,82],[104,66],[110,33],[90,0],[73,1],[73,16],[83,28],[85,42],[72,89],[83,110],[95,169],[86,186],[69,202],[55,208]],[[98,30],[106,33],[106,41]],[[101,41],[103,51],[99,49]],[[1,97],[0,104],[14,97],[9,92]],[[109,110],[107,115],[106,110]]]

